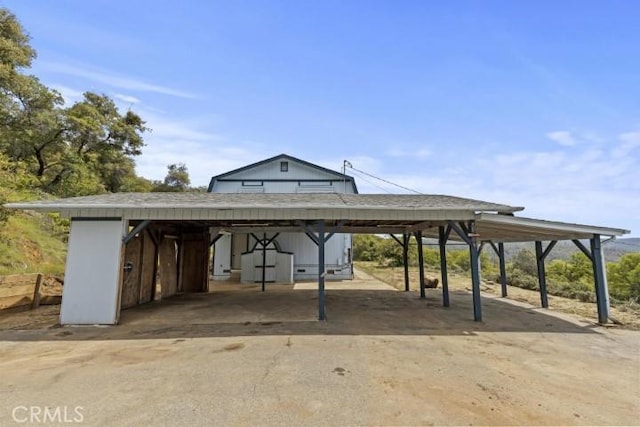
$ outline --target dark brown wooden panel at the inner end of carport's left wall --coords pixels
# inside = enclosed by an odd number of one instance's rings
[[[209,233],[182,236],[181,279],[184,292],[206,292],[209,289]]]

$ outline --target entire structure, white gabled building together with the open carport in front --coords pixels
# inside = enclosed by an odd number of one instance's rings
[[[6,207],[58,212],[70,219],[62,325],[117,324],[121,310],[153,301],[158,285],[162,298],[207,292],[211,273],[223,278],[238,270],[245,281],[260,281],[262,291],[268,291],[268,281],[313,277],[318,318],[325,320],[325,280],[350,276],[349,235],[355,233],[389,234],[397,240],[407,291],[407,252],[415,239],[420,298],[425,298],[422,239],[436,238],[445,307],[450,305],[446,245],[466,245],[476,321],[482,320],[478,259],[483,248],[498,255],[504,297],[504,244],[535,243],[540,304],[546,308],[545,259],[558,241],[573,241],[592,263],[598,321],[606,323],[602,241],[629,233],[520,217],[516,213],[523,207],[454,196],[358,194],[353,178],[286,155],[218,175],[209,192],[115,193]],[[599,208],[597,201],[593,208]]]

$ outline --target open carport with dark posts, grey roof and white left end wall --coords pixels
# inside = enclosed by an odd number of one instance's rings
[[[605,323],[608,291],[602,238],[628,233],[520,218],[514,213],[522,207],[443,195],[115,193],[7,207],[59,212],[71,220],[61,324],[116,324],[122,308],[153,300],[158,276],[163,296],[207,291],[210,246],[223,233],[254,233],[268,242],[285,231],[307,234],[318,247],[318,265],[325,265],[324,245],[335,233],[390,234],[404,248],[407,290],[408,245],[414,237],[422,298],[422,239],[438,238],[444,306],[449,305],[446,243],[464,242],[469,247],[476,321],[482,320],[478,258],[484,247],[498,254],[506,296],[504,243],[535,242],[541,303],[547,307],[544,260],[557,241],[572,240],[592,262],[598,320]],[[325,274],[318,273],[320,320],[326,320]]]

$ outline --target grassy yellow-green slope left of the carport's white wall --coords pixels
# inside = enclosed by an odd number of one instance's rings
[[[0,225],[0,275],[64,273],[66,227],[54,218],[16,212]]]

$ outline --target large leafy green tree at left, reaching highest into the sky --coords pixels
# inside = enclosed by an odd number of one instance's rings
[[[0,8],[0,150],[24,162],[47,192],[120,191],[135,176],[133,157],[141,154],[148,130],[144,121],[93,92],[65,107],[58,92],[25,73],[33,58],[28,35]]]

